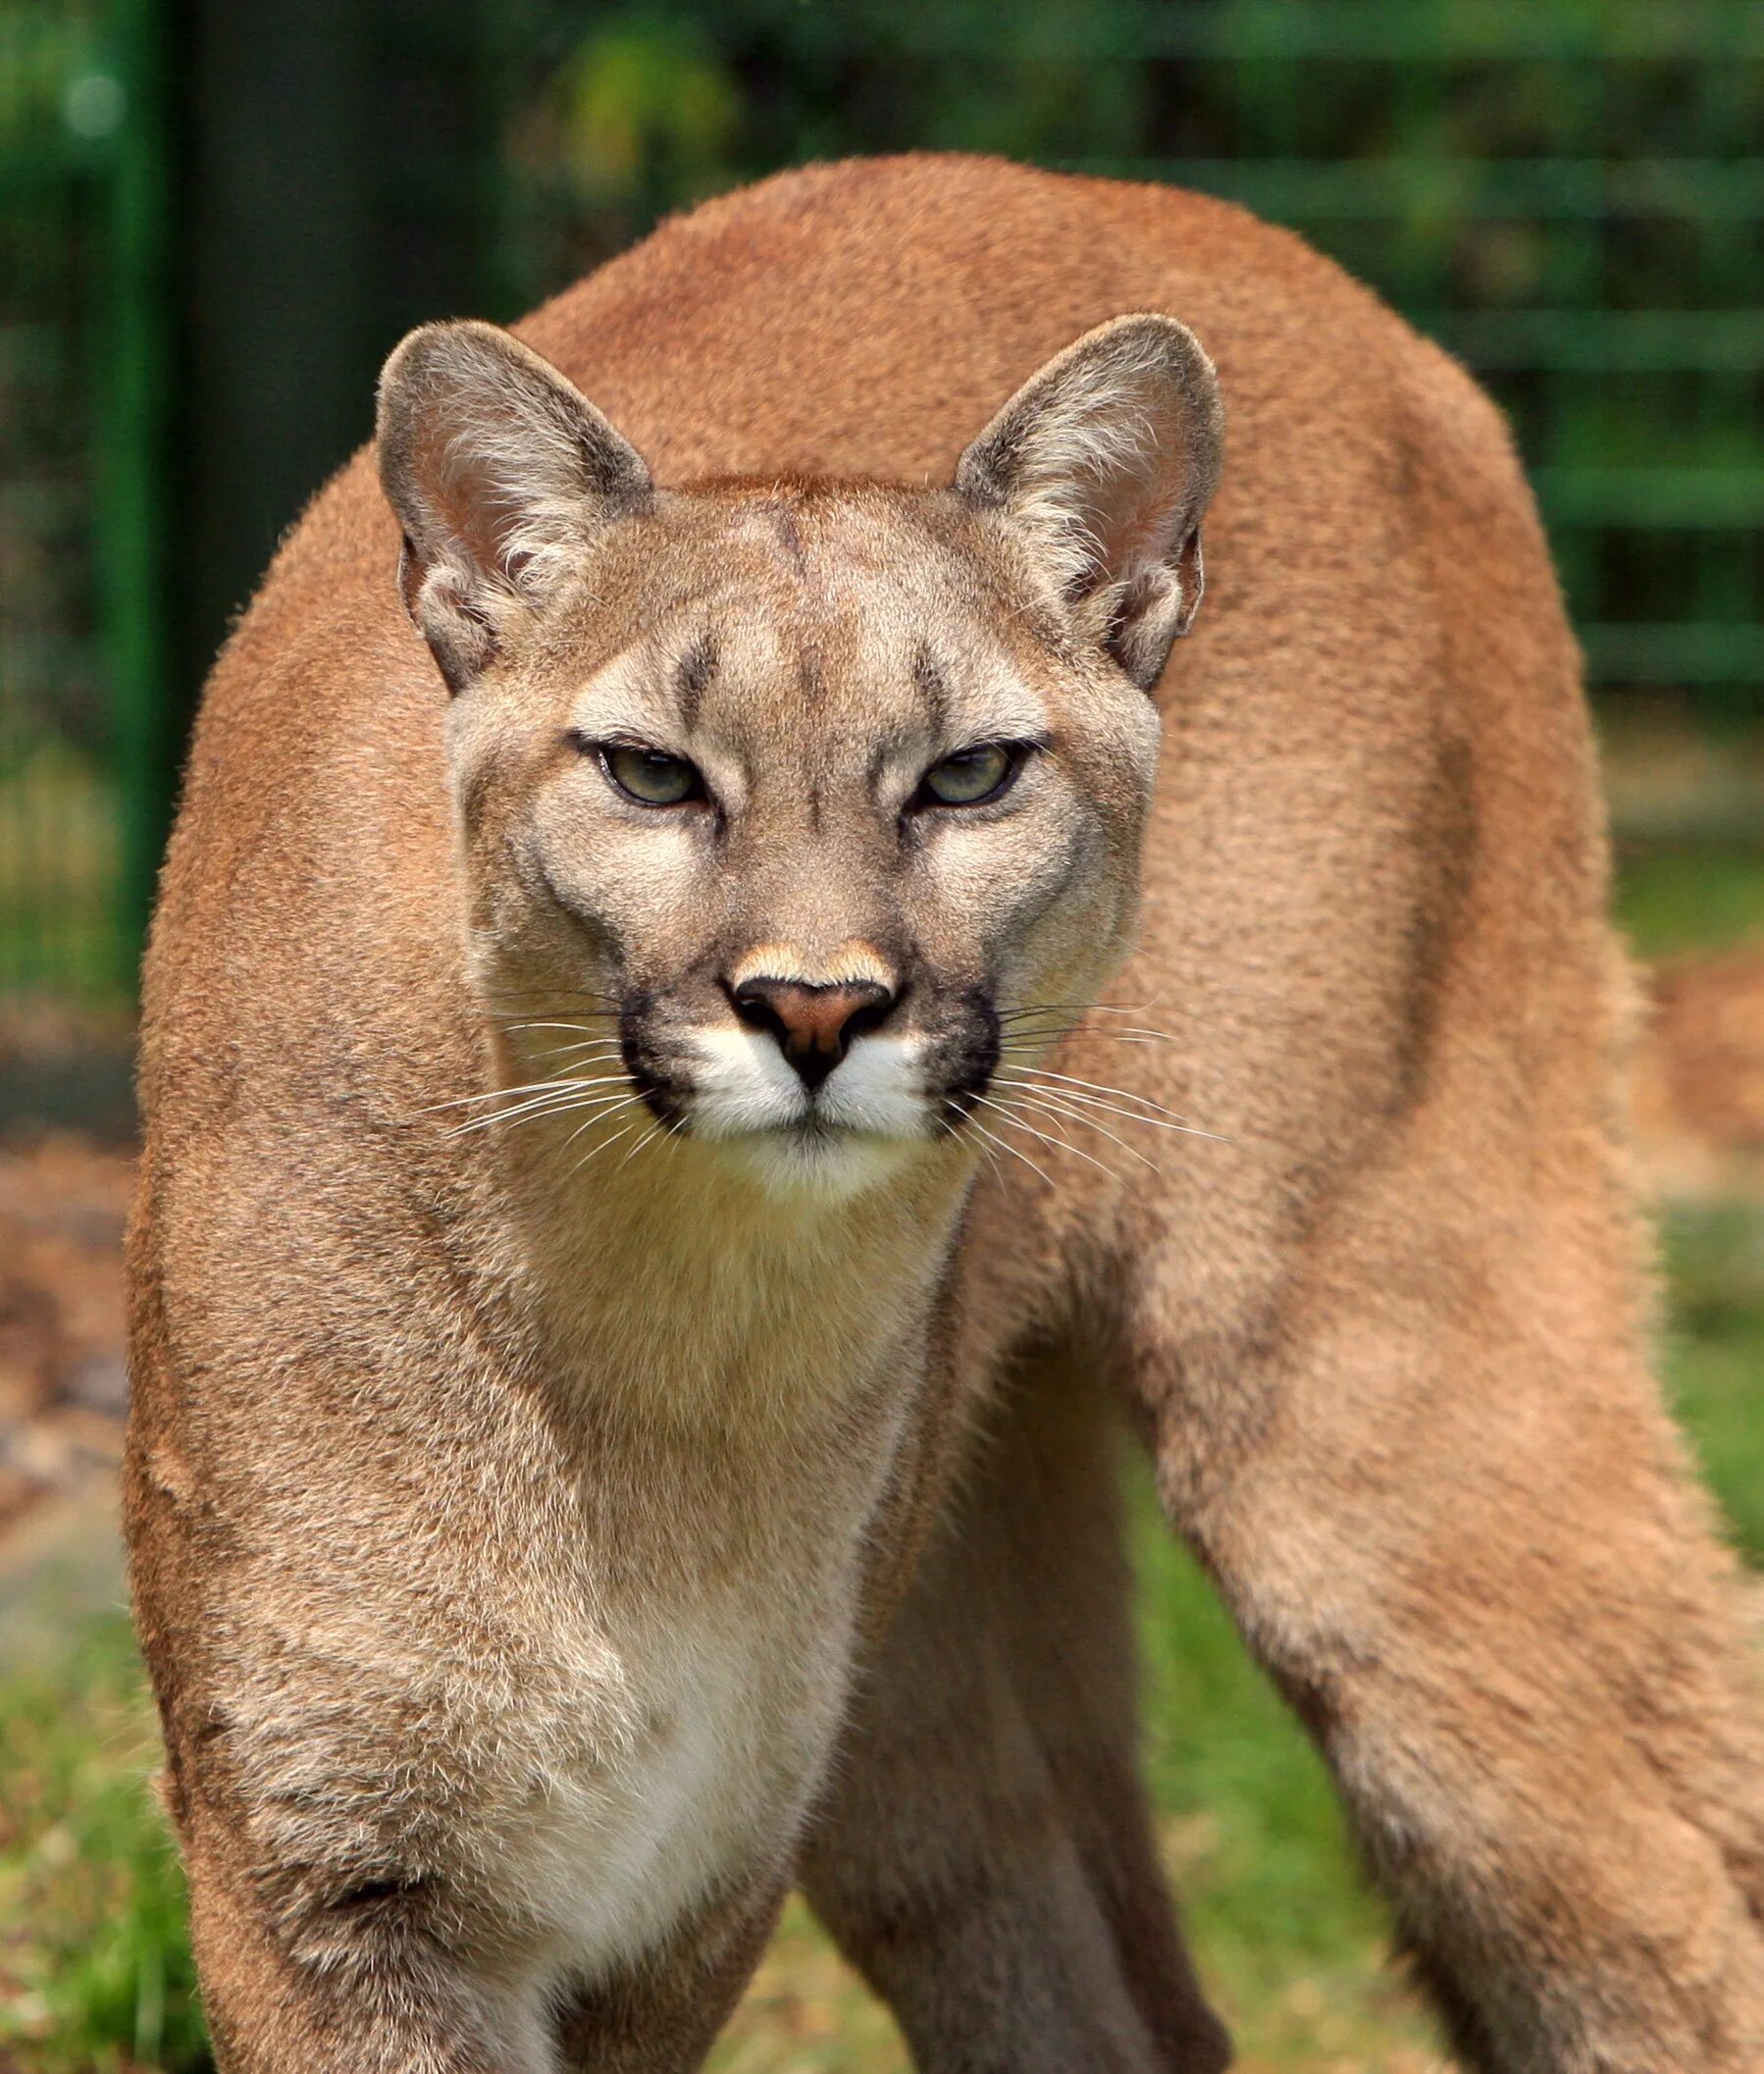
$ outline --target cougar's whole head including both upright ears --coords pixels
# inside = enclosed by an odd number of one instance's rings
[[[506,332],[406,338],[381,477],[524,1078],[775,1186],[978,1137],[1123,954],[1219,438],[1192,334],[1132,315],[947,487],[657,489]]]

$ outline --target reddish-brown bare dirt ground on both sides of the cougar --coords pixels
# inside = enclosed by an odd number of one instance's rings
[[[1764,946],[1660,966],[1635,1108],[1667,1195],[1764,1195]],[[0,1074],[19,1064],[4,1056]],[[114,1473],[124,1143],[15,1124],[0,1139],[0,1541]]]

